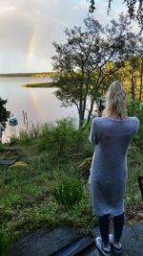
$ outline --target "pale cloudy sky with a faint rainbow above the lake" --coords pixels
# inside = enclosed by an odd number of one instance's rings
[[[126,10],[121,3],[113,0],[108,16],[108,0],[98,0],[93,16],[105,25]],[[66,28],[83,26],[89,6],[87,0],[0,0],[0,73],[51,71],[52,42],[66,42]]]

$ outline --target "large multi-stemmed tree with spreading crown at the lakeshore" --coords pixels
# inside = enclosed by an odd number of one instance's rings
[[[119,15],[119,21],[102,25],[88,16],[85,28],[67,29],[67,43],[53,42],[56,55],[52,57],[57,72],[56,81],[62,90],[56,92],[64,105],[76,105],[79,128],[91,120],[93,105],[103,92],[103,84],[124,64],[125,41],[130,25],[127,16]],[[87,112],[88,111],[88,112]]]

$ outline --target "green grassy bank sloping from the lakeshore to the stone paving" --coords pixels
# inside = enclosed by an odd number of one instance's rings
[[[68,224],[92,235],[96,219],[92,215],[87,168],[78,168],[85,158],[92,156],[93,147],[88,137],[88,129],[78,131],[72,120],[64,119],[56,126],[44,125],[29,133],[21,132],[19,139],[11,138],[11,154],[16,151],[20,163],[11,167],[0,166],[3,255],[7,255],[9,245],[23,234],[41,226],[54,228]],[[6,151],[4,146],[1,148],[1,157],[4,158]],[[142,152],[133,146],[128,156],[126,221],[141,221],[143,208],[137,176],[143,175]],[[62,193],[61,182],[66,197],[58,194]],[[77,187],[79,190],[75,189]]]

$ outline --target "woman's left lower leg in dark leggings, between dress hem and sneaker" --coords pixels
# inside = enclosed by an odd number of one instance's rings
[[[103,243],[109,244],[110,216],[109,214],[98,216],[99,230]]]

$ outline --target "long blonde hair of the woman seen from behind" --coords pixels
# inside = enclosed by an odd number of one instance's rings
[[[121,118],[127,114],[126,92],[119,81],[113,81],[106,94],[106,107],[103,116],[111,114]]]

